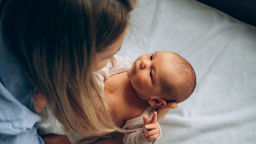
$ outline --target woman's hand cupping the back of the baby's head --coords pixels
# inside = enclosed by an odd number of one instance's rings
[[[164,119],[165,115],[169,112],[170,109],[175,109],[178,107],[176,102],[168,102],[166,106],[160,107],[157,112],[157,122],[160,123]]]

